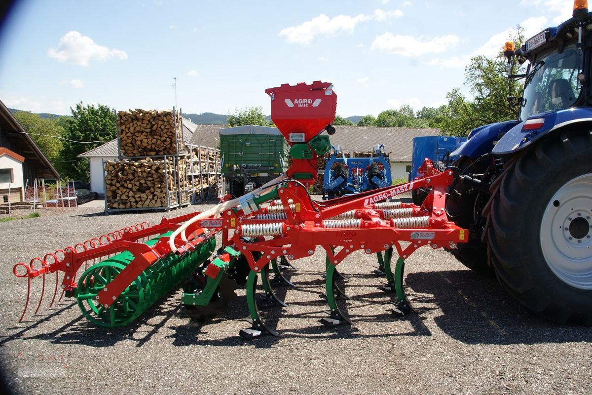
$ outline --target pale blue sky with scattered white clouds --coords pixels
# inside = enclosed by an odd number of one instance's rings
[[[446,103],[471,56],[571,17],[570,0],[20,0],[0,37],[0,99],[70,114],[175,105],[229,114],[266,88],[332,82],[337,114]],[[464,92],[469,94],[464,88]]]

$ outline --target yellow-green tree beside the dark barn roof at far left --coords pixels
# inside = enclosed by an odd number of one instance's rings
[[[22,129],[31,136],[43,155],[53,164],[62,149],[60,137],[64,134],[63,127],[57,121],[58,118],[41,118],[38,114],[28,111],[18,111],[14,117],[17,118]]]

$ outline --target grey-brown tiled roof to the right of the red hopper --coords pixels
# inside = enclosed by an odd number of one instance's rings
[[[391,160],[402,162],[411,162],[413,137],[440,134],[440,129],[401,127],[336,126],[335,130],[331,144],[340,145],[344,152],[369,152],[375,144],[384,144],[385,152],[392,152]]]

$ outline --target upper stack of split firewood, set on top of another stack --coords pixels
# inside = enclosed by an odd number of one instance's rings
[[[176,155],[184,152],[181,117],[175,111],[136,110],[117,113],[120,155]],[[177,150],[177,147],[179,150]]]

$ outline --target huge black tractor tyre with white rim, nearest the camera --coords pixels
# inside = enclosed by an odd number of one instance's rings
[[[487,242],[501,284],[557,323],[592,326],[592,131],[555,133],[506,163]]]

